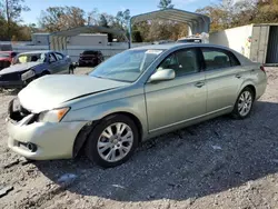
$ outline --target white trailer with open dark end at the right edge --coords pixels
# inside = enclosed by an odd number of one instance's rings
[[[209,42],[229,47],[255,62],[278,64],[278,24],[248,24],[209,34]]]

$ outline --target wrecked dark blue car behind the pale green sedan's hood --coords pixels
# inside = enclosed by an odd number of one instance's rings
[[[39,77],[71,70],[70,58],[56,51],[20,53],[13,63],[0,71],[0,88],[22,88]]]

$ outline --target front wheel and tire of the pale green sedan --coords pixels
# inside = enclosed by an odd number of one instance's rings
[[[85,151],[98,166],[111,168],[126,162],[135,152],[138,141],[136,123],[127,116],[113,115],[101,120],[90,132]]]

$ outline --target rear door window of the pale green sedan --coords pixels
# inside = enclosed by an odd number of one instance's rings
[[[206,69],[215,70],[239,66],[238,59],[229,51],[218,49],[201,49]]]

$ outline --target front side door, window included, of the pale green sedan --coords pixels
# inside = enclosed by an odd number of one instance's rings
[[[157,70],[173,69],[173,80],[145,87],[149,131],[159,131],[206,113],[207,88],[197,49],[183,49],[166,58]]]

